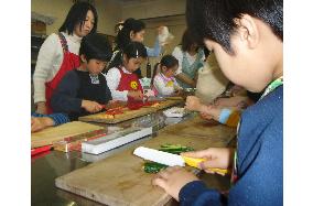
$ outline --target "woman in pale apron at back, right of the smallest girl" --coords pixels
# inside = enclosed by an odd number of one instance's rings
[[[179,69],[175,78],[183,88],[196,87],[197,71],[203,66],[205,55],[203,48],[193,40],[186,30],[181,45],[173,51],[173,56],[179,59]]]

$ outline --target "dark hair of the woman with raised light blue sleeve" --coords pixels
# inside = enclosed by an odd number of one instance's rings
[[[123,28],[118,32],[116,37],[117,47],[115,50],[125,50],[125,47],[131,42],[130,32],[140,32],[145,29],[142,21],[132,18],[127,19],[123,22]]]

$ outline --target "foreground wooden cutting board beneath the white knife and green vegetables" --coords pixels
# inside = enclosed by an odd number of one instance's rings
[[[219,130],[224,131],[225,128],[220,127]],[[159,149],[161,144],[165,143],[179,143],[202,150],[209,147],[225,147],[224,142],[204,137],[164,133],[121,153],[57,177],[55,185],[106,205],[164,205],[171,199],[171,196],[165,194],[163,189],[151,185],[153,175],[142,171],[144,161],[134,156],[133,150],[139,145]]]

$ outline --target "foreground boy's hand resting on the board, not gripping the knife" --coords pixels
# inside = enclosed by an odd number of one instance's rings
[[[152,180],[152,184],[162,187],[168,194],[176,200],[180,200],[179,194],[181,188],[185,184],[197,180],[198,178],[194,174],[185,171],[184,169],[173,166],[160,171]]]

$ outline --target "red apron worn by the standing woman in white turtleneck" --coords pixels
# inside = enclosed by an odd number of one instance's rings
[[[51,109],[51,97],[54,90],[56,89],[57,85],[60,84],[61,79],[63,78],[63,76],[68,71],[77,68],[80,65],[79,56],[68,51],[68,45],[64,35],[62,33],[58,33],[58,37],[63,47],[63,62],[61,64],[58,72],[53,77],[53,79],[48,83],[45,83],[45,100],[46,100],[45,105],[47,113],[53,112]]]

